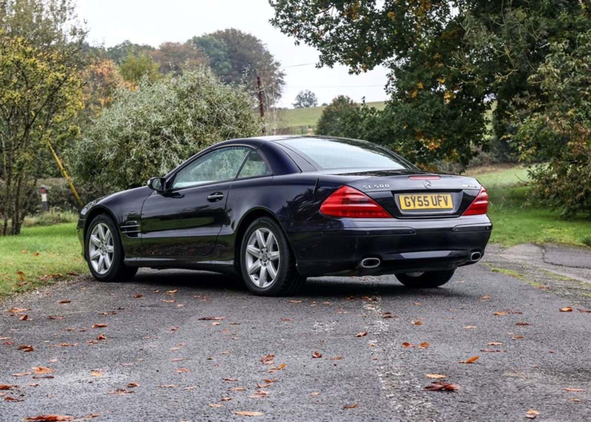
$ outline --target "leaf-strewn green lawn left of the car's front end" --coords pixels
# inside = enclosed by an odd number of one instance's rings
[[[25,227],[19,236],[0,237],[0,296],[86,271],[76,223]]]

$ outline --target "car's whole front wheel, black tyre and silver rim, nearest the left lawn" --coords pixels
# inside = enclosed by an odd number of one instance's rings
[[[105,214],[92,219],[86,232],[85,255],[88,268],[97,281],[128,281],[138,272],[126,267],[117,226]]]

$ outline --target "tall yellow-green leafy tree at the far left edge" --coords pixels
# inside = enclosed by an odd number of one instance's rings
[[[86,34],[74,18],[64,0],[10,0],[0,7],[3,235],[20,233],[37,178],[51,160],[47,142],[59,146],[78,131]]]

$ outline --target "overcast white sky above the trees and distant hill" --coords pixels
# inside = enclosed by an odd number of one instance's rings
[[[184,42],[194,35],[223,28],[251,33],[267,44],[282,66],[316,63],[319,53],[296,46],[294,39],[269,24],[273,8],[267,0],[78,0],[79,17],[86,20],[89,41],[114,46],[124,40],[157,47],[164,41]],[[291,107],[297,93],[310,89],[319,104],[344,94],[361,101],[386,98],[383,67],[361,75],[349,75],[344,66],[316,69],[314,64],[286,67],[280,106]]]

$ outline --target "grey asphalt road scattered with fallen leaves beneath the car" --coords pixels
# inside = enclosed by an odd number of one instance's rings
[[[204,272],[80,278],[2,303],[29,310],[1,311],[0,384],[18,387],[0,391],[0,420],[514,421],[530,409],[537,420],[590,420],[591,313],[577,309],[591,309],[591,294],[564,277],[521,278],[486,264],[426,291],[325,277],[290,298]],[[54,372],[11,375],[39,366]],[[460,389],[428,391],[438,380],[426,374]],[[109,394],[118,389],[128,393]]]

